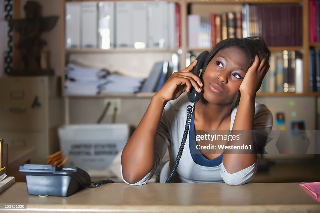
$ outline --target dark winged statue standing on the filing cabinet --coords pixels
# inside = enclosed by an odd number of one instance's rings
[[[26,18],[10,20],[9,25],[19,34],[15,45],[19,50],[22,67],[13,70],[13,75],[45,75],[48,70],[42,70],[40,65],[41,50],[46,42],[41,39],[42,32],[51,30],[58,16],[41,17],[41,6],[36,1],[27,1],[23,7]]]

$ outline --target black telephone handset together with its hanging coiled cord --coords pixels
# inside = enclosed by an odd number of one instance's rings
[[[196,74],[200,78],[202,78],[202,76],[203,76],[204,62],[207,59],[208,55],[209,55],[209,51],[206,51],[206,50],[203,51],[202,53],[200,53],[200,55],[198,55],[198,57],[196,58],[196,60],[198,61],[196,66],[191,70],[192,73]],[[201,70],[202,70],[202,72],[200,73]],[[170,172],[170,175],[164,183],[170,183],[174,174],[176,173],[176,169],[179,165],[180,158],[182,156],[183,148],[186,144],[186,140],[187,140],[187,136],[188,136],[188,132],[189,132],[189,128],[190,128],[190,121],[191,121],[191,117],[192,117],[192,108],[195,106],[196,102],[198,102],[200,100],[201,96],[202,96],[202,92],[198,93],[194,87],[191,87],[190,92],[188,92],[188,100],[191,103],[194,103],[194,105],[193,106],[188,105],[188,107],[187,107],[188,108],[187,109],[188,115],[187,115],[187,120],[186,120],[186,127],[184,129],[183,137],[181,140],[181,145],[180,145],[176,160],[174,162],[173,168]],[[160,175],[160,171],[157,175],[156,182],[159,182],[159,175]]]

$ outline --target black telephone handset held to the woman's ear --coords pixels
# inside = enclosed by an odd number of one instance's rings
[[[196,66],[191,70],[196,76],[200,77],[200,71],[204,68],[204,62],[209,55],[209,51],[203,51],[200,55],[196,58],[198,61]],[[203,75],[204,70],[201,73]],[[201,78],[201,77],[200,77]],[[194,87],[191,87],[190,92],[188,92],[188,100],[192,103],[196,103],[200,100],[202,92],[198,93]]]

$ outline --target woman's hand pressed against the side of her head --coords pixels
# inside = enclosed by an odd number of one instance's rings
[[[263,56],[262,61],[260,61],[258,55],[256,55],[254,62],[249,67],[244,79],[240,85],[241,95],[255,96],[261,87],[262,80],[269,70],[269,62],[267,55]]]

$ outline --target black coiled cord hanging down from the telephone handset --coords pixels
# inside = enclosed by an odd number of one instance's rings
[[[188,132],[189,132],[189,129],[190,129],[190,122],[191,122],[191,117],[192,117],[192,108],[195,106],[196,103],[193,104],[193,106],[191,105],[188,105],[188,109],[187,109],[187,120],[186,120],[186,126],[184,128],[184,133],[183,133],[183,136],[182,136],[182,140],[181,140],[181,144],[180,144],[180,148],[179,148],[179,151],[178,151],[178,154],[177,154],[177,157],[176,157],[176,161],[174,162],[174,166],[171,170],[171,173],[168,177],[168,179],[164,182],[164,183],[170,183],[171,179],[173,178],[174,174],[176,173],[176,169],[179,165],[179,162],[180,162],[180,158],[182,156],[182,152],[183,152],[183,148],[186,144],[186,141],[187,141],[187,136],[188,136]],[[158,175],[159,177],[159,175]]]

